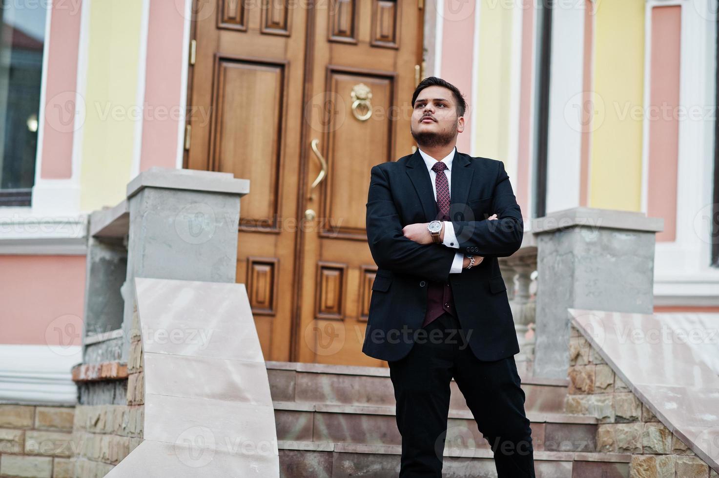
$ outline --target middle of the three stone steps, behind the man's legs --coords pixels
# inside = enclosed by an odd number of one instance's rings
[[[273,401],[278,440],[397,445],[402,437],[395,407]],[[596,450],[597,419],[585,415],[528,412],[533,449]],[[468,410],[449,410],[446,446],[490,449]]]

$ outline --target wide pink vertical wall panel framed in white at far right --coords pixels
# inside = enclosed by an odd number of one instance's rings
[[[647,215],[664,219],[657,241],[674,241],[677,229],[677,162],[679,160],[679,47],[681,6],[651,10],[649,91],[649,190]]]

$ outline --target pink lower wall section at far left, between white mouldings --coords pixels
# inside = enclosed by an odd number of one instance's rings
[[[85,256],[0,256],[0,270],[0,344],[82,344]]]

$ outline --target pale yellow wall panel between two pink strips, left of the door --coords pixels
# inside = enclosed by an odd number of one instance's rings
[[[88,5],[86,119],[82,136],[83,211],[125,197],[135,142],[142,0]]]

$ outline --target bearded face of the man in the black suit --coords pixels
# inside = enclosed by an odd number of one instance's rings
[[[464,116],[457,118],[452,91],[428,86],[419,92],[412,111],[410,129],[419,146],[444,146],[464,131]]]

